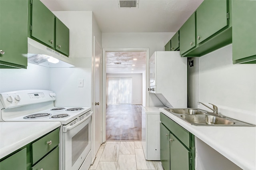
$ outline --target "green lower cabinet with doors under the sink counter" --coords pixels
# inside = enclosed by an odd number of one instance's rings
[[[164,170],[194,170],[194,135],[160,113],[160,160]]]

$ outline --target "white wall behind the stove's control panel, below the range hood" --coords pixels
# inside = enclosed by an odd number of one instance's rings
[[[28,63],[27,69],[0,69],[0,93],[16,90],[49,90],[49,68]]]

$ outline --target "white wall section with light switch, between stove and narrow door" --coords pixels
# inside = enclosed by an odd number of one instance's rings
[[[56,93],[56,107],[91,107],[91,59],[72,59],[76,67],[50,68],[50,90]],[[84,86],[78,87],[78,79]]]

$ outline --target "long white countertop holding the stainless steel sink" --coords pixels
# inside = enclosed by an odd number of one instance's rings
[[[164,109],[159,110],[243,170],[256,169],[256,127],[193,126]]]

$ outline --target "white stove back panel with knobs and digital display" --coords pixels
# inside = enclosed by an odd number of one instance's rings
[[[0,93],[0,101],[5,109],[55,101],[56,94],[48,90],[20,90]]]

